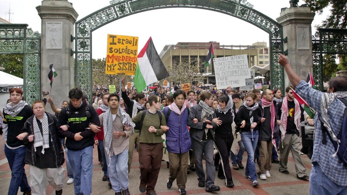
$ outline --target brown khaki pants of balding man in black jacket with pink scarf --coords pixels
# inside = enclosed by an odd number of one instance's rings
[[[271,169],[272,141],[261,141],[259,146],[259,171],[258,174],[265,174]]]

